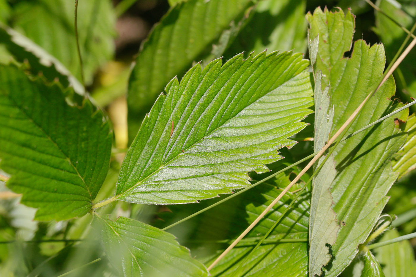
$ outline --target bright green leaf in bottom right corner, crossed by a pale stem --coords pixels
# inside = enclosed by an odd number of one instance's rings
[[[396,237],[399,237],[399,232],[397,230],[390,230],[384,233],[380,242],[392,240]],[[414,276],[416,261],[412,245],[408,240],[377,247],[373,252],[380,262],[386,277]]]

